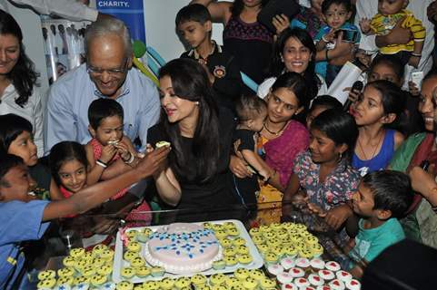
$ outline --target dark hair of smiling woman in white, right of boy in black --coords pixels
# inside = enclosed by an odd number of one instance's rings
[[[310,63],[308,63],[308,67],[306,68],[305,72],[303,73],[303,78],[305,79],[305,82],[309,88],[310,99],[313,100],[313,98],[315,98],[315,96],[317,95],[317,92],[319,92],[319,88],[322,83],[315,73],[315,54],[317,52],[315,50],[313,38],[311,38],[311,35],[303,29],[287,28],[281,34],[279,34],[276,43],[274,43],[273,45],[273,56],[270,63],[269,73],[271,76],[274,77],[278,77],[283,73],[285,65],[283,64],[281,55],[283,54],[283,47],[290,37],[299,40],[303,44],[303,46],[308,48],[311,52],[311,60]]]

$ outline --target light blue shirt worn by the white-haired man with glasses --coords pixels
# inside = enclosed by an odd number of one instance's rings
[[[104,96],[86,73],[85,64],[65,73],[52,85],[45,114],[45,154],[60,141],[84,144],[91,140],[88,107],[98,98]],[[124,109],[124,135],[132,141],[139,137],[143,151],[147,130],[159,120],[161,106],[156,86],[133,68],[127,73],[122,93],[115,101]]]

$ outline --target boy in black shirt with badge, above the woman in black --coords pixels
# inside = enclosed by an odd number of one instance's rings
[[[190,47],[181,57],[203,64],[217,92],[218,103],[235,111],[233,102],[240,96],[243,86],[240,67],[232,54],[211,40],[213,24],[208,8],[200,4],[186,5],[176,14],[175,23]]]

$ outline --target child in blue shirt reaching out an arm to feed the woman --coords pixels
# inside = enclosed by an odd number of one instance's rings
[[[59,201],[35,199],[29,194],[33,179],[24,161],[12,154],[0,154],[0,289],[28,289],[21,242],[40,239],[50,220],[85,212],[118,190],[152,176],[169,151],[154,150],[135,169]]]

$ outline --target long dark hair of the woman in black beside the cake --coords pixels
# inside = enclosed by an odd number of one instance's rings
[[[217,171],[220,151],[218,107],[214,101],[213,88],[204,67],[191,59],[175,59],[166,63],[159,71],[159,77],[164,76],[172,80],[176,96],[199,102],[199,119],[190,151],[184,150],[178,123],[162,118],[164,131],[172,142],[169,163],[177,177],[206,182]],[[189,164],[191,160],[188,156],[194,156],[196,162]]]

